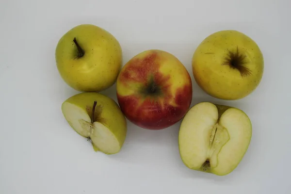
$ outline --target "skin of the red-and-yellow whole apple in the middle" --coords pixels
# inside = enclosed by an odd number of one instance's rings
[[[151,81],[159,88],[153,94],[147,90]],[[116,90],[122,112],[144,129],[174,125],[192,101],[192,81],[187,69],[174,55],[157,49],[130,59],[117,78]]]

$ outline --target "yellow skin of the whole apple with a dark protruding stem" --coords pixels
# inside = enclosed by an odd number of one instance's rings
[[[76,38],[84,50],[77,58]],[[91,24],[82,24],[59,40],[55,59],[63,80],[82,92],[100,92],[112,86],[122,65],[122,50],[114,36]]]

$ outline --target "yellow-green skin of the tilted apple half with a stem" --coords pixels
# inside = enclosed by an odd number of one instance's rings
[[[64,113],[63,105],[68,102],[80,107],[91,117],[94,101],[97,101],[95,117],[99,118],[98,122],[111,130],[115,138],[118,140],[120,147],[122,147],[126,139],[127,122],[119,106],[112,98],[97,92],[80,93],[66,99],[62,104],[62,111]],[[71,123],[68,124],[73,128]],[[94,145],[93,148],[95,151],[98,150],[98,148]]]

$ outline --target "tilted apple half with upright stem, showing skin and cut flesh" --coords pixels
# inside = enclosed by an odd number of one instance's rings
[[[95,151],[106,154],[120,151],[127,123],[113,99],[95,92],[77,94],[65,100],[62,112],[69,125],[91,141]]]

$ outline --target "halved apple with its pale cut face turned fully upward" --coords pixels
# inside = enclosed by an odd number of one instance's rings
[[[180,156],[190,169],[227,175],[241,162],[251,136],[251,121],[242,110],[201,102],[182,120]]]

